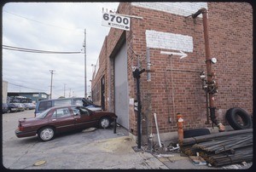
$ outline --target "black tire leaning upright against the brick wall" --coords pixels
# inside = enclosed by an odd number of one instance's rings
[[[237,121],[237,116],[239,116],[242,120],[242,125]],[[235,129],[251,129],[253,127],[253,121],[251,116],[239,107],[230,108],[225,115],[230,126]]]

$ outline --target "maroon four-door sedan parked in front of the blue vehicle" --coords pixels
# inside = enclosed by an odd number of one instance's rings
[[[93,112],[83,106],[52,107],[35,118],[19,119],[17,137],[38,135],[43,141],[51,140],[55,134],[90,127],[108,128],[117,118],[113,112]]]

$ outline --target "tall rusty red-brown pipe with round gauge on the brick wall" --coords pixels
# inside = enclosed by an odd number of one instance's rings
[[[205,38],[205,49],[206,49],[206,63],[207,63],[207,93],[209,94],[209,109],[210,109],[210,117],[212,123],[218,126],[218,131],[224,131],[224,125],[218,122],[218,119],[215,116],[214,106],[214,94],[217,93],[217,84],[214,81],[215,73],[212,70],[212,63],[216,62],[215,58],[211,58],[210,46],[209,46],[209,35],[208,35],[208,19],[207,19],[207,9],[202,8],[199,9],[195,14],[192,14],[192,18],[195,19],[199,14],[202,14],[203,19],[203,27],[204,27],[204,38]],[[213,60],[214,59],[214,60]]]

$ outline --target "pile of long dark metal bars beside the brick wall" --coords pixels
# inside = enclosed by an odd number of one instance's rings
[[[207,163],[223,166],[253,161],[253,129],[241,129],[183,139],[181,151],[188,156],[199,153]]]

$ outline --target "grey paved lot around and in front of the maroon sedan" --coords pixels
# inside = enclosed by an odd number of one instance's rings
[[[126,129],[92,129],[57,135],[41,142],[37,136],[17,138],[19,118],[34,111],[3,114],[3,166],[6,169],[164,169],[147,152],[134,152]]]

